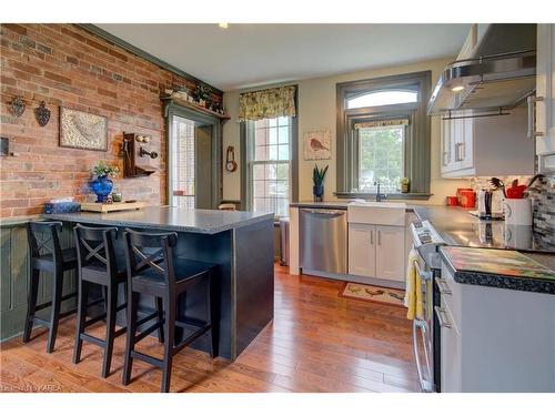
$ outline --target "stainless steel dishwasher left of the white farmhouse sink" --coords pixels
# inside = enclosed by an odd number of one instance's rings
[[[300,266],[310,271],[347,273],[345,210],[300,210]]]

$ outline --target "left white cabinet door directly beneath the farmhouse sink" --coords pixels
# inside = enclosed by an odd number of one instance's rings
[[[376,226],[349,224],[349,274],[374,277]]]

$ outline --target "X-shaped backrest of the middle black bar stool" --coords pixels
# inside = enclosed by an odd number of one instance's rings
[[[115,227],[90,227],[77,224],[73,229],[79,268],[95,266],[110,275],[118,273],[114,254]]]

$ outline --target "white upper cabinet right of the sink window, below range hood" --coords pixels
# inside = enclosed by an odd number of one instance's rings
[[[467,118],[470,110],[442,115],[442,176],[534,174],[534,143],[524,106],[509,115]],[[465,118],[466,116],[466,118]]]

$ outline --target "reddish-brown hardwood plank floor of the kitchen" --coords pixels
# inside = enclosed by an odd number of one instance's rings
[[[341,282],[291,276],[275,266],[275,316],[234,362],[210,361],[185,348],[174,357],[172,392],[416,392],[411,323],[396,306],[340,297]],[[100,377],[102,349],[84,343],[71,362],[74,318],[60,324],[56,351],[44,352],[47,331],[21,344],[1,344],[0,392],[158,392],[161,372],[135,359],[121,385],[124,336],[117,338],[112,374]],[[103,337],[104,326],[90,329]],[[161,356],[157,338],[144,352]]]

